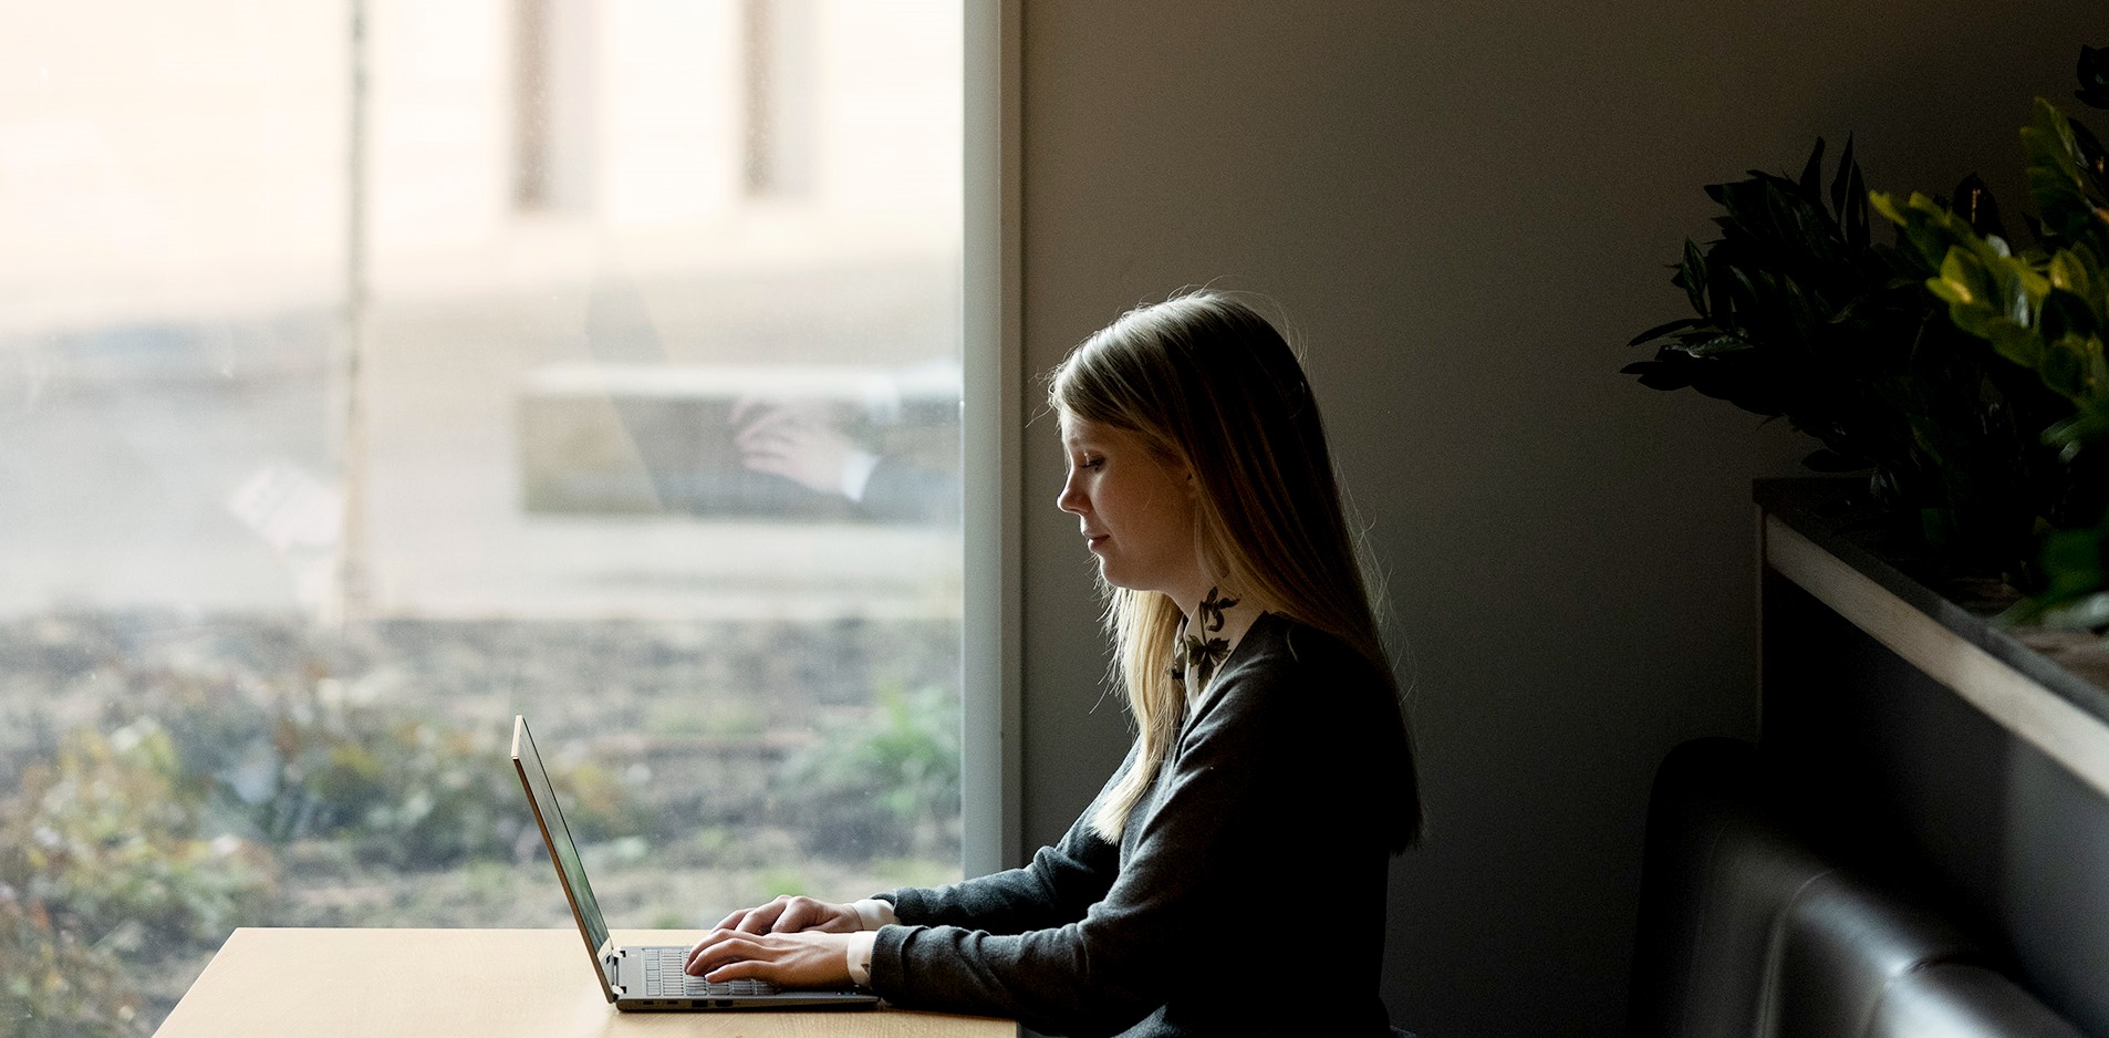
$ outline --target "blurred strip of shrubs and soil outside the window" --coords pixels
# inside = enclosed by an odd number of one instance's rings
[[[0,624],[0,1032],[150,1034],[234,926],[618,926],[957,878],[953,622]]]

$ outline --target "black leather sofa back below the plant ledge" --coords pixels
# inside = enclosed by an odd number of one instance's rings
[[[1757,747],[1656,772],[1630,1038],[2079,1038],[1921,897],[1841,867],[1767,795]]]

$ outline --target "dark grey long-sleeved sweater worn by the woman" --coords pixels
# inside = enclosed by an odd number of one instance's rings
[[[1386,1036],[1386,846],[1409,753],[1367,660],[1265,614],[1118,846],[1090,831],[1095,802],[1023,869],[882,895],[903,926],[877,933],[871,987],[1044,1034]]]

